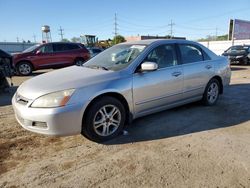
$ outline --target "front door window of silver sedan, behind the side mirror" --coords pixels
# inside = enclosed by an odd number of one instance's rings
[[[153,49],[145,61],[155,62],[158,69],[177,65],[177,56],[174,45],[161,45]]]

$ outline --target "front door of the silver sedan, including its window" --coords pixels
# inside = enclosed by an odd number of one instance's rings
[[[158,64],[158,70],[138,71],[133,75],[133,99],[137,116],[161,110],[182,99],[183,70],[174,44],[153,49],[143,62]]]

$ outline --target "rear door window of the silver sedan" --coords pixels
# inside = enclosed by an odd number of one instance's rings
[[[200,48],[189,44],[180,44],[179,47],[183,64],[203,61],[203,54]]]

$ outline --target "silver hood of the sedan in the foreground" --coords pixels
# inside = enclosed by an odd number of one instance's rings
[[[119,75],[119,72],[114,71],[71,66],[31,78],[21,84],[17,92],[27,99],[34,100],[48,93],[117,79]]]

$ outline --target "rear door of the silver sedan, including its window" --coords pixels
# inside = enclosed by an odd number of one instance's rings
[[[179,44],[183,64],[183,98],[202,96],[208,81],[214,75],[210,57],[197,45]]]

